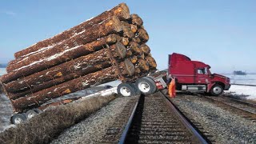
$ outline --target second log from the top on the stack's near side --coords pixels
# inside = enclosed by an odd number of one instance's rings
[[[74,50],[79,46],[82,46],[88,42],[93,42],[97,38],[105,37],[108,34],[118,33],[122,30],[122,24],[116,17],[107,19],[106,21],[91,26],[82,33],[69,38],[66,42],[53,46],[48,50],[44,50],[38,54],[30,55],[30,57],[24,58],[21,61],[15,62],[15,64],[7,66],[7,72],[21,70],[23,66],[28,66],[34,62],[41,62],[47,58],[54,58],[53,54],[59,55],[66,51]],[[47,67],[48,68],[48,67]]]

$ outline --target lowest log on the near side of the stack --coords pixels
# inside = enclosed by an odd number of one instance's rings
[[[131,62],[125,61],[120,63],[119,68],[122,74],[127,74],[127,67],[133,66]],[[78,90],[89,88],[90,86],[97,86],[102,83],[111,82],[118,78],[113,67],[97,71],[95,73],[87,74],[80,78],[75,78],[71,81],[64,82],[60,85],[50,87],[48,89],[38,91],[23,98],[18,98],[13,101],[14,110],[22,112],[22,110],[35,108],[41,106],[43,103],[52,98],[58,98],[66,94],[73,93]]]

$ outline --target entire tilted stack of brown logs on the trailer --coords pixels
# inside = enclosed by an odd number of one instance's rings
[[[132,82],[155,70],[142,24],[121,3],[14,54],[0,78],[14,111],[117,79]]]

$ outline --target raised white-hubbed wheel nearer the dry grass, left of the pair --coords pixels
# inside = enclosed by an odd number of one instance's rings
[[[130,97],[136,95],[136,90],[134,86],[130,83],[121,83],[118,85],[118,94],[124,97]]]

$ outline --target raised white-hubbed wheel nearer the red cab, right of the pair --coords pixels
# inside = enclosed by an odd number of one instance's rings
[[[154,94],[157,90],[155,82],[151,78],[140,78],[135,82],[135,86],[142,92],[142,94]]]

